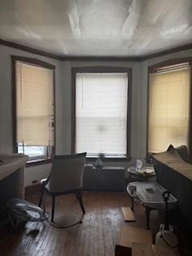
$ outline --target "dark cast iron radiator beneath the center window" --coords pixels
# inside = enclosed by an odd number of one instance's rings
[[[85,166],[83,190],[124,191],[125,189],[125,167],[105,166],[95,168]]]

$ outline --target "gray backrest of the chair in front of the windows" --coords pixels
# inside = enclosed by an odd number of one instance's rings
[[[62,193],[82,188],[86,153],[55,155],[50,172],[49,187],[52,193]]]

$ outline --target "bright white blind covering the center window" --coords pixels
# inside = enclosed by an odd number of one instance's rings
[[[76,151],[126,154],[126,73],[76,75]]]

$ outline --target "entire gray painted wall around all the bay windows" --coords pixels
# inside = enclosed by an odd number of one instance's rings
[[[170,58],[192,56],[192,50],[170,54],[145,62],[59,62],[22,50],[0,46],[0,154],[12,153],[11,58],[10,55],[38,58],[56,66],[56,154],[70,154],[71,138],[71,67],[125,66],[133,69],[130,162],[107,162],[107,165],[134,165],[136,158],[146,157],[147,66]],[[50,164],[26,168],[26,186],[50,172]]]

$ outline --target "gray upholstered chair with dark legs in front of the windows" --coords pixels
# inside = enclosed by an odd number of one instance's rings
[[[42,204],[44,190],[52,196],[51,222],[54,221],[55,197],[62,194],[76,194],[78,202],[85,214],[82,202],[82,181],[86,153],[56,155],[48,178],[42,179],[42,190],[39,198],[39,206]]]

